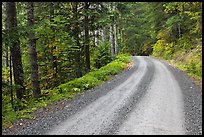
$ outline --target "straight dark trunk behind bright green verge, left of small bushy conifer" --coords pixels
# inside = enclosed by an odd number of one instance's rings
[[[85,2],[85,17],[84,17],[84,30],[85,30],[85,58],[86,58],[86,71],[90,71],[90,51],[89,51],[89,18],[88,18],[88,10],[89,3]]]

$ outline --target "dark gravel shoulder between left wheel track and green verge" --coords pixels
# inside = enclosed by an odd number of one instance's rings
[[[133,59],[134,58],[134,59]],[[135,71],[137,71],[140,62],[132,57],[133,67],[130,70],[124,70],[123,72],[112,76],[112,78],[103,84],[97,86],[86,92],[82,92],[74,97],[72,100],[64,100],[64,108],[47,113],[46,115],[36,119],[26,125],[18,126],[15,129],[2,129],[4,135],[40,135],[44,134],[47,130],[50,130],[53,125],[58,125],[67,118],[76,114],[82,108],[86,107],[90,103],[94,102],[98,98],[106,95],[110,90],[122,84],[127,80]]]

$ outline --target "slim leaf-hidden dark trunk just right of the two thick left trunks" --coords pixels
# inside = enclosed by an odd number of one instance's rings
[[[50,2],[50,22],[53,22],[52,19],[54,17],[54,3]],[[54,32],[54,28],[51,26],[52,31]],[[52,37],[52,42],[53,40],[55,40],[55,37]],[[58,85],[58,77],[57,77],[57,73],[58,73],[58,69],[57,69],[57,57],[55,55],[53,55],[54,50],[56,50],[56,45],[54,45],[51,49],[52,51],[52,69],[54,70],[53,72],[53,79],[54,79],[54,85],[53,87],[56,87]]]

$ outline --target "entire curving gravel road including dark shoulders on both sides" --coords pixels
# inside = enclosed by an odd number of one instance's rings
[[[61,110],[3,134],[202,134],[202,91],[182,71],[146,56]]]

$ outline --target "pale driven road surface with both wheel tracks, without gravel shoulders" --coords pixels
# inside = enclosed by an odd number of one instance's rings
[[[46,134],[185,134],[182,90],[160,61],[134,57],[137,70]]]

